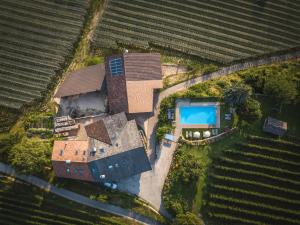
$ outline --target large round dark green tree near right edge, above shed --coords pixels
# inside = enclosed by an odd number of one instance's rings
[[[293,78],[287,72],[277,72],[270,74],[265,81],[264,93],[280,104],[280,111],[282,105],[291,103],[297,97],[297,83]]]

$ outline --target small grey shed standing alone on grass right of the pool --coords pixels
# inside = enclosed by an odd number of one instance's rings
[[[267,117],[264,122],[263,130],[278,136],[283,136],[287,132],[287,122]]]

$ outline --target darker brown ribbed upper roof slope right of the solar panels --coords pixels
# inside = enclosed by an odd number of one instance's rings
[[[159,53],[126,53],[123,57],[127,81],[162,79]]]

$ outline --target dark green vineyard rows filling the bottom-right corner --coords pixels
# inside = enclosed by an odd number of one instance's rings
[[[207,224],[300,224],[300,145],[250,136],[209,172]]]

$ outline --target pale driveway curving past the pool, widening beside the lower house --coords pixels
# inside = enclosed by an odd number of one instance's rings
[[[138,195],[140,198],[149,202],[155,209],[159,210],[162,215],[168,217],[169,215],[162,205],[162,190],[172,162],[173,154],[176,150],[176,145],[172,144],[171,146],[156,146],[155,131],[161,101],[171,94],[185,90],[197,83],[202,83],[213,78],[226,76],[228,74],[245,70],[250,67],[281,62],[288,59],[297,58],[299,56],[300,51],[281,56],[274,56],[246,63],[235,64],[232,66],[221,68],[216,72],[205,74],[203,76],[179,83],[160,92],[156,99],[153,116],[148,119],[147,126],[147,138],[148,145],[150,146],[150,151],[155,152],[156,150],[156,152],[158,153],[157,159],[152,163],[153,170],[147,171],[138,176],[122,180],[119,183],[119,188],[122,191],[127,191],[129,193]],[[175,135],[179,136],[179,132],[180,131],[175,131]]]

